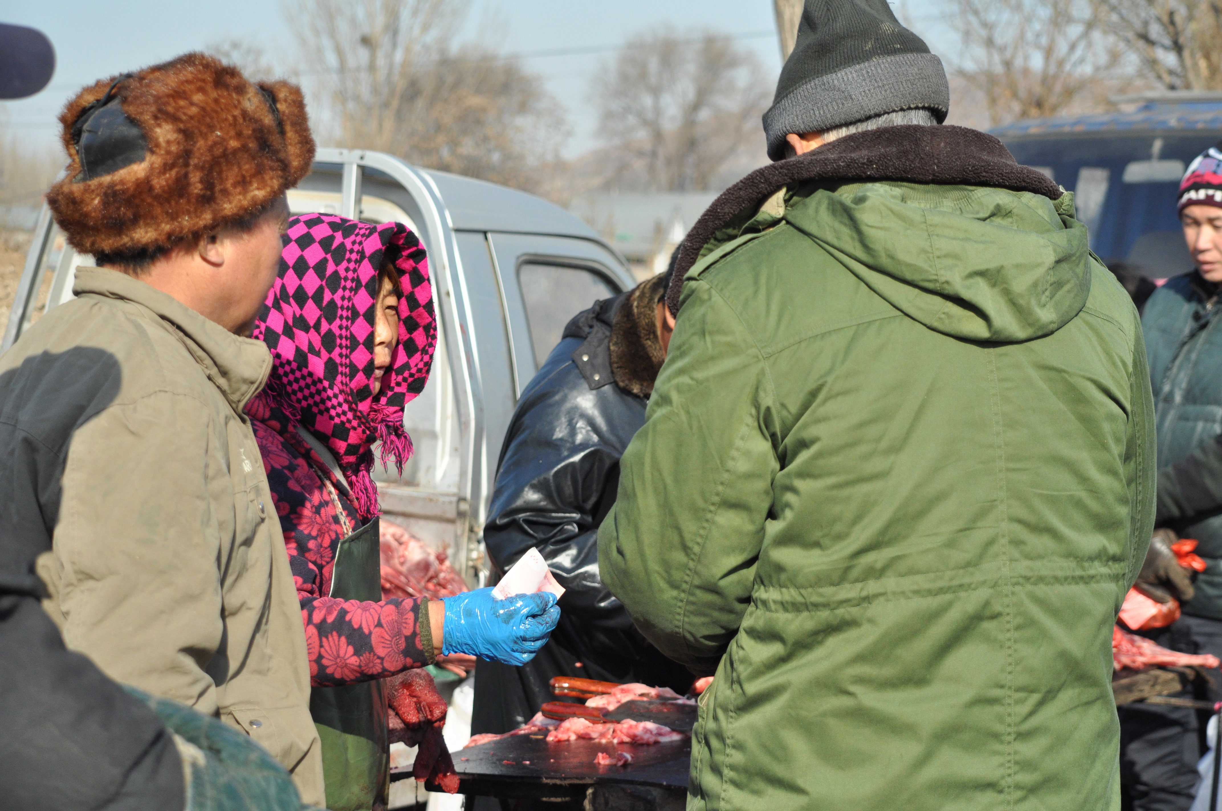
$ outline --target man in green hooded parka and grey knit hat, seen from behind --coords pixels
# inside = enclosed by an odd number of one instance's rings
[[[716,674],[689,809],[1119,809],[1141,327],[1073,195],[947,105],[885,0],[807,0],[776,162],[684,242],[599,562]]]

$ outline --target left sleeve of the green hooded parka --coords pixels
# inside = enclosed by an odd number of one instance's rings
[[[750,603],[780,465],[755,341],[716,291],[687,285],[693,293],[599,530],[599,569],[659,650],[711,674]]]

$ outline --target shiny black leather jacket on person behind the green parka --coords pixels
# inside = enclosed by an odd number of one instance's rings
[[[510,423],[484,542],[500,578],[530,547],[565,586],[551,640],[522,667],[480,662],[473,733],[525,723],[555,675],[644,682],[681,693],[692,674],[635,629],[599,578],[598,530],[615,502],[620,457],[645,423],[644,397],[613,385],[612,316],[628,298],[595,302],[565,329],[518,402]],[[580,662],[580,667],[577,663]]]

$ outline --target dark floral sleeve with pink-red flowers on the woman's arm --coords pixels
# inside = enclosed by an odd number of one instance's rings
[[[252,425],[301,600],[310,685],[369,682],[428,664],[418,623],[423,597],[363,602],[323,596],[343,539],[336,502],[296,448],[258,420]],[[352,504],[342,496],[338,502],[358,526]]]

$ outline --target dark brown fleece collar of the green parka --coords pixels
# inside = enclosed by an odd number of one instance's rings
[[[1064,193],[1046,175],[1019,165],[1000,140],[976,129],[904,125],[844,136],[804,155],[756,169],[712,202],[683,239],[666,292],[671,313],[678,314],[683,277],[717,231],[786,186],[809,181],[986,186],[1042,194],[1050,200]]]

